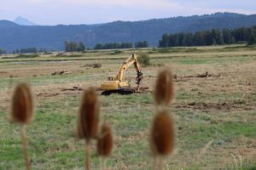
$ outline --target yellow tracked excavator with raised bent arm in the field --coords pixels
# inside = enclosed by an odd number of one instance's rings
[[[137,88],[131,88],[129,82],[125,81],[125,71],[129,66],[134,65],[137,71],[136,83]],[[132,54],[128,59],[125,60],[124,64],[119,68],[119,72],[116,76],[108,77],[105,82],[101,84],[102,95],[109,94],[134,94],[139,91],[140,83],[143,80],[143,73],[141,67],[137,61],[137,55]]]

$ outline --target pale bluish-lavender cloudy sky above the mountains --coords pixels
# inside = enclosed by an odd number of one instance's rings
[[[256,14],[256,0],[0,0],[0,20],[38,25],[97,24],[234,12]]]

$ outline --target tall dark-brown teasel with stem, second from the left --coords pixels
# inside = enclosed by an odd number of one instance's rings
[[[88,88],[84,91],[82,104],[79,111],[78,135],[85,139],[85,169],[90,169],[90,143],[98,133],[99,104],[96,90]]]

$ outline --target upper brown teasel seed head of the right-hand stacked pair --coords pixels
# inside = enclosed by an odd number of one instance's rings
[[[158,74],[154,89],[154,99],[157,105],[170,105],[173,96],[172,72],[164,69]]]

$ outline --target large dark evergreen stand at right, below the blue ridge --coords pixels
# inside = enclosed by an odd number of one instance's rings
[[[256,26],[232,30],[223,29],[221,31],[215,28],[210,31],[196,31],[195,33],[164,34],[159,41],[159,47],[222,45],[238,42],[247,42],[248,45],[256,43]]]

